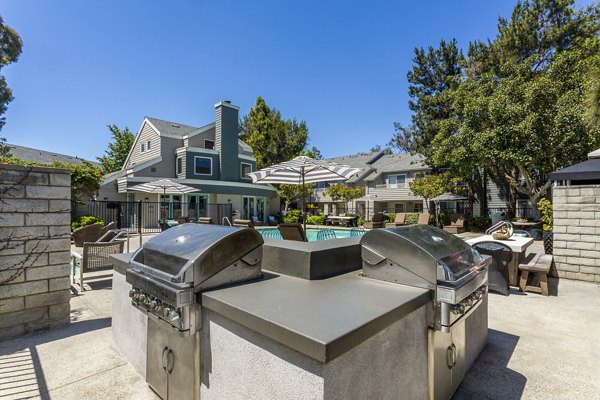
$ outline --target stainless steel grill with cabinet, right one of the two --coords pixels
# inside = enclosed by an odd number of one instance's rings
[[[432,291],[430,397],[449,399],[485,344],[491,260],[427,225],[374,229],[361,246],[365,277]]]

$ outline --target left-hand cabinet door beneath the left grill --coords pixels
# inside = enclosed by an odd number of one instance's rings
[[[169,332],[148,318],[148,349],[146,359],[146,381],[160,396],[167,398],[166,358],[169,351]]]

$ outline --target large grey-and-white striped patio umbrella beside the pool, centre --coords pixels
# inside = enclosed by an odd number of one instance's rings
[[[360,168],[336,164],[327,160],[299,156],[290,161],[250,172],[252,183],[285,183],[288,185],[304,185],[307,183],[347,180],[361,172]],[[306,230],[306,215],[302,213],[302,222]]]

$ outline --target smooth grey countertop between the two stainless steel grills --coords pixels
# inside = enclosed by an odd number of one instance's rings
[[[132,255],[111,256],[115,271],[124,274]],[[201,295],[203,307],[323,363],[430,300],[429,290],[365,278],[357,271],[306,280],[263,270],[258,281]]]

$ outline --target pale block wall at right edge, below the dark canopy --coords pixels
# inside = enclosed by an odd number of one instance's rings
[[[600,283],[600,185],[557,186],[552,198],[558,276]]]

